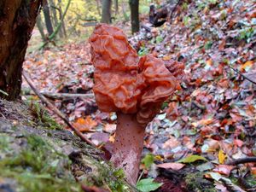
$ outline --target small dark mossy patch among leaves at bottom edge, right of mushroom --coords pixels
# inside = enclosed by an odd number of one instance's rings
[[[204,178],[203,172],[192,172],[186,175],[185,183],[189,191],[216,192],[214,185]]]

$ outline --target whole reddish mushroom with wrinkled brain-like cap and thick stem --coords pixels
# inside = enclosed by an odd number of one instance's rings
[[[93,88],[103,112],[117,113],[111,161],[122,167],[130,183],[136,183],[143,151],[145,127],[160,106],[180,89],[183,64],[166,63],[153,55],[138,57],[125,33],[101,24],[90,37],[91,60],[96,68]],[[172,65],[173,64],[173,65]],[[168,70],[166,66],[169,65]]]

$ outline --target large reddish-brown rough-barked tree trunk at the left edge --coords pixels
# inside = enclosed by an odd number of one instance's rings
[[[41,4],[42,0],[0,1],[0,90],[9,100],[20,95],[22,62]]]

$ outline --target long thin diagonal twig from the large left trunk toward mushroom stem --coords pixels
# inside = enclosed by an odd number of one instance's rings
[[[77,128],[75,128],[69,120],[60,112],[59,109],[57,109],[51,102],[49,102],[45,96],[43,96],[37,88],[32,84],[32,80],[27,76],[26,72],[23,70],[22,75],[24,79],[26,80],[27,84],[29,84],[32,88],[32,90],[37,94],[37,96],[40,98],[42,102],[44,102],[53,112],[55,112],[71,129],[75,132],[75,134],[85,143],[96,147],[94,143],[92,143],[87,137],[85,137]]]

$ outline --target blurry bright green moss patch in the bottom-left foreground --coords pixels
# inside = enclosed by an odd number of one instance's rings
[[[81,191],[70,172],[70,164],[66,155],[56,152],[41,137],[30,135],[20,153],[0,160],[0,177],[14,178],[20,192]]]

